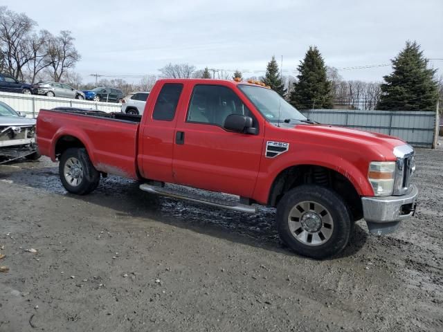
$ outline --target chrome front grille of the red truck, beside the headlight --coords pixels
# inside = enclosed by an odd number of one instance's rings
[[[394,195],[404,195],[410,187],[410,176],[415,171],[414,149],[410,145],[395,147],[394,154],[397,156],[395,167]]]

